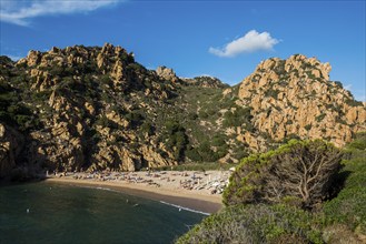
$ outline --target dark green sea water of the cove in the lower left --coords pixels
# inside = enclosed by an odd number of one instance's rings
[[[0,186],[0,243],[171,243],[205,215],[117,191]]]

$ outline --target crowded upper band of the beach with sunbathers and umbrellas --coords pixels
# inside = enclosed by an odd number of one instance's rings
[[[230,171],[139,171],[139,172],[62,172],[47,177],[80,181],[139,184],[149,187],[187,190],[206,194],[221,194],[229,182]]]

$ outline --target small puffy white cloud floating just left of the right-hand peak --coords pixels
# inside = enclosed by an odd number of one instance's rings
[[[278,42],[279,40],[271,38],[268,32],[258,33],[256,30],[251,30],[244,37],[227,43],[224,48],[209,48],[208,51],[218,57],[235,57],[243,52],[273,50]]]

